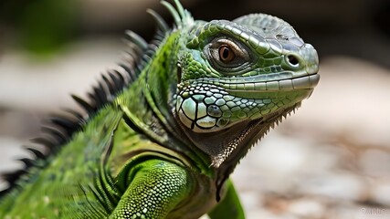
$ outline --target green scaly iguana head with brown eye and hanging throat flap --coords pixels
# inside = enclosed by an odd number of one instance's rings
[[[215,167],[236,165],[320,79],[316,50],[277,17],[195,21],[186,34],[174,113]]]

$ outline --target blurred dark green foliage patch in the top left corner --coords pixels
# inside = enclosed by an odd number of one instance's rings
[[[16,44],[32,53],[52,54],[77,35],[79,0],[0,2],[0,18],[15,31]]]

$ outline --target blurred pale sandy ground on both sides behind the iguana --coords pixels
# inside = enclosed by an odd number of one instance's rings
[[[119,60],[117,39],[79,42],[50,61],[0,59],[0,172],[20,168],[39,120],[75,108]],[[321,59],[321,81],[300,110],[254,147],[233,174],[248,218],[390,218],[390,69]],[[5,184],[0,183],[0,187]]]

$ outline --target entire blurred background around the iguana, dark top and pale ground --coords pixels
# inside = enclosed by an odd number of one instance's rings
[[[390,218],[390,2],[183,0],[196,19],[267,13],[317,48],[321,81],[233,174],[248,218]],[[157,0],[0,1],[0,172],[40,122],[77,108],[120,60],[132,29],[151,39]],[[5,188],[0,183],[0,189]]]

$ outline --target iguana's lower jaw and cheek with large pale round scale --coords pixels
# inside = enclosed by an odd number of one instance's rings
[[[292,106],[309,97],[320,79],[317,74],[274,75],[269,75],[269,81],[264,81],[267,77],[200,78],[180,84],[175,107],[178,119],[194,132],[216,133]]]

